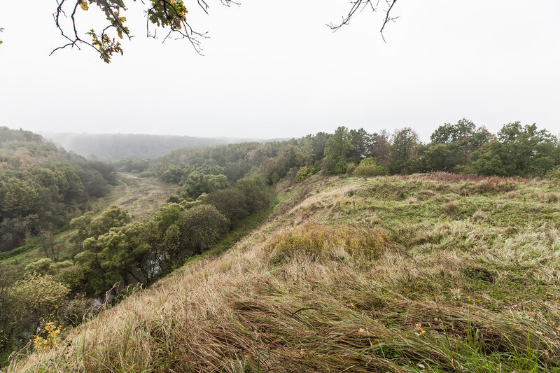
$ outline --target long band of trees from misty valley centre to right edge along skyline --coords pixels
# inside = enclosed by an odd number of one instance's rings
[[[542,177],[560,165],[559,139],[546,129],[520,122],[496,134],[467,119],[440,125],[422,143],[411,128],[385,130],[338,127],[300,139],[174,150],[158,160],[125,159],[117,167],[155,176],[191,190],[221,188],[255,169],[269,184],[290,170],[297,181],[327,174],[376,176],[445,171],[484,176]],[[206,184],[205,184],[206,183]]]

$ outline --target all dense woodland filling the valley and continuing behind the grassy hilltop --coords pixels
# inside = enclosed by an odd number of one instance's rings
[[[369,134],[339,127],[289,141],[182,148],[158,160],[129,157],[115,166],[181,187],[155,216],[134,220],[117,206],[97,216],[87,212],[87,202],[116,183],[113,167],[2,127],[0,249],[35,236],[45,258],[24,273],[0,272],[0,349],[22,346],[45,320],[75,325],[92,312],[90,297],[116,284],[147,285],[209,250],[245,218],[269,209],[271,186],[283,178],[433,171],[559,176],[559,140],[535,125],[516,122],[491,134],[463,119],[438,127],[430,140],[421,143],[410,128]],[[52,232],[65,224],[74,232],[64,248],[71,255],[60,258]]]

